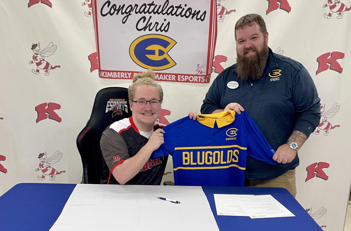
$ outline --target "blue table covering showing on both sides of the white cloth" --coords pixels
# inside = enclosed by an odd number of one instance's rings
[[[76,184],[55,183],[21,183],[15,185],[0,197],[0,230],[49,230],[60,216],[75,187]],[[163,189],[172,190],[172,187],[179,186],[151,187],[163,187]],[[286,189],[202,187],[202,190],[208,200],[218,229],[221,231],[322,230]],[[140,196],[142,194],[143,192],[140,192]],[[271,194],[295,217],[251,219],[249,217],[217,216],[213,194]],[[145,216],[150,215],[145,214]],[[172,219],[177,218],[172,217]],[[172,226],[172,223],[169,225]],[[164,230],[169,229],[165,227]]]

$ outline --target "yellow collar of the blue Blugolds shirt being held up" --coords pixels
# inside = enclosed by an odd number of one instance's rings
[[[224,127],[232,123],[235,119],[235,111],[223,111],[214,114],[199,114],[197,120],[200,124],[207,127],[214,127],[214,123],[217,122],[218,127]]]

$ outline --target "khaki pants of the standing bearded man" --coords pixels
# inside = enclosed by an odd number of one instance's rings
[[[270,180],[246,180],[246,187],[272,187],[287,189],[293,197],[296,196],[295,169],[289,170],[277,178]]]

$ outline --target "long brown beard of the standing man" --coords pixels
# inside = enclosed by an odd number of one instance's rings
[[[256,51],[253,57],[240,56],[237,52],[237,74],[243,80],[258,80],[261,78],[268,57],[268,45],[264,42],[261,51]],[[246,50],[244,51],[246,52]]]

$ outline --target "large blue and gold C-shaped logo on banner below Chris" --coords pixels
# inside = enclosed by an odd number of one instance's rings
[[[140,67],[161,71],[176,65],[168,52],[177,42],[160,34],[147,34],[135,39],[129,47],[129,55]]]

